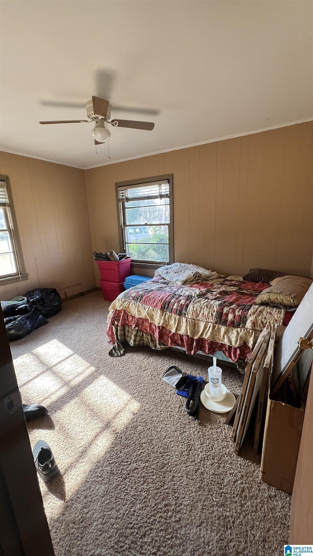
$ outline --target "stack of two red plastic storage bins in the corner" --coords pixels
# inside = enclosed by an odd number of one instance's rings
[[[106,301],[114,301],[124,291],[124,280],[130,275],[130,261],[96,261],[101,275],[100,286]]]

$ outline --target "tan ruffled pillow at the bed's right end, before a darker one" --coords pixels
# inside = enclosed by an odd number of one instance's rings
[[[271,286],[259,294],[256,305],[276,305],[282,309],[297,307],[309,290],[312,280],[286,274],[270,282]]]

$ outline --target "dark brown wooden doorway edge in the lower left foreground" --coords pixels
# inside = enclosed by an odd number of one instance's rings
[[[0,309],[0,555],[54,556]]]

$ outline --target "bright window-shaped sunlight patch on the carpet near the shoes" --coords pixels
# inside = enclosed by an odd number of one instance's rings
[[[58,340],[15,359],[14,366],[23,402],[44,404],[55,426],[45,429],[48,418],[42,418],[28,430],[32,446],[38,439],[48,441],[61,471],[50,484],[40,480],[51,519],[105,459],[140,404]]]

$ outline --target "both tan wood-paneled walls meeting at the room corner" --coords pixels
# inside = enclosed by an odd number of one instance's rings
[[[91,251],[119,250],[115,182],[167,173],[174,176],[175,261],[224,274],[260,266],[310,276],[312,132],[307,122],[85,172],[0,152],[28,272],[22,284],[0,286],[0,299],[40,286],[38,257],[80,250],[85,280],[75,284],[72,276],[66,294],[94,287]],[[51,267],[51,285],[53,278]]]

